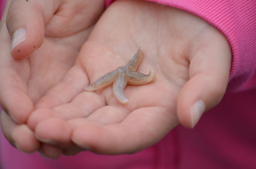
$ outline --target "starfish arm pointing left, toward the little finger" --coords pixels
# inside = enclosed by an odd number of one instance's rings
[[[108,72],[104,76],[100,77],[94,83],[89,86],[85,86],[84,90],[88,92],[95,92],[96,90],[103,89],[107,86],[110,86],[113,81],[116,79],[116,70]]]

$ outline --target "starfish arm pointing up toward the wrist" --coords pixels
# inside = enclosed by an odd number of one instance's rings
[[[134,57],[132,57],[132,59],[126,64],[127,69],[130,71],[136,71],[143,60],[143,56],[144,53],[139,47]]]

